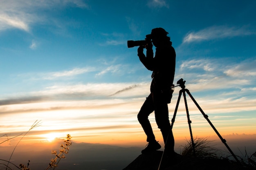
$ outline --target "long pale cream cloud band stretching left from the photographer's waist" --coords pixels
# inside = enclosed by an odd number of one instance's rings
[[[30,113],[92,108],[100,110],[106,107],[113,107],[116,110],[121,105],[140,105],[137,101],[144,100],[149,93],[149,86],[150,83],[88,83],[48,86],[40,91],[13,94],[0,99],[0,112],[3,114]]]

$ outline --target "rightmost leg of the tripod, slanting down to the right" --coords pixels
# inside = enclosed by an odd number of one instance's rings
[[[191,95],[191,93],[189,92],[188,89],[185,89],[186,93],[188,93],[189,97],[191,97],[191,99],[193,100],[193,102],[195,103],[195,105],[198,107],[198,109],[200,110],[200,112],[202,113],[202,115],[204,116],[204,118],[208,121],[208,123],[211,125],[211,127],[213,128],[213,130],[216,132],[216,134],[218,135],[218,137],[220,138],[220,140],[222,141],[222,143],[227,147],[227,149],[229,150],[229,152],[231,153],[231,155],[236,159],[237,162],[240,162],[236,155],[234,154],[234,152],[229,148],[229,146],[226,143],[226,140],[222,138],[222,136],[220,135],[220,133],[218,132],[218,130],[213,126],[213,124],[211,123],[210,119],[208,118],[208,115],[206,115],[204,113],[204,111],[202,110],[202,108],[199,106],[199,104],[195,101],[194,97]]]

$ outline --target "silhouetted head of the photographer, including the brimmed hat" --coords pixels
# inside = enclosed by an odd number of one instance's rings
[[[165,43],[166,40],[170,40],[169,37],[167,37],[168,32],[166,32],[163,28],[155,28],[152,29],[151,34],[146,35],[147,38],[152,39],[154,46],[159,46],[162,43]]]

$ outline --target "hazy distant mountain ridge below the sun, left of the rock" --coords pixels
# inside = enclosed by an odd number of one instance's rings
[[[11,163],[27,164],[31,170],[44,170],[49,165],[52,150],[57,152],[63,140],[36,144],[19,144],[13,153]],[[0,159],[9,160],[14,146],[0,146]],[[121,170],[140,154],[142,148],[120,147],[108,144],[72,142],[65,159],[61,159],[58,169],[66,170]],[[1,163],[1,161],[0,161]],[[85,168],[86,167],[86,168]],[[16,168],[13,168],[16,170]]]

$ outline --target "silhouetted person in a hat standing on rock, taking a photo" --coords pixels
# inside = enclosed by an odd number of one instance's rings
[[[163,28],[152,29],[151,34],[146,35],[146,38],[151,39],[153,44],[150,42],[146,46],[139,46],[138,48],[139,60],[148,70],[153,71],[150,95],[146,98],[138,113],[139,123],[146,133],[148,142],[147,147],[141,151],[142,154],[148,154],[161,148],[161,145],[155,139],[148,120],[148,116],[153,111],[155,111],[157,126],[163,135],[165,152],[174,153],[174,138],[170,130],[171,124],[167,104],[171,102],[173,94],[171,86],[175,73],[176,54],[167,34]],[[153,56],[153,45],[156,47],[155,57]],[[143,53],[144,48],[146,48],[146,56]]]

